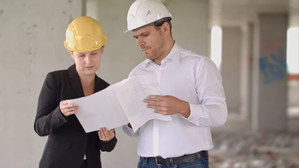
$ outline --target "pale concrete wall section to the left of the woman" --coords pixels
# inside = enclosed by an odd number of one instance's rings
[[[45,75],[73,60],[64,48],[82,0],[0,0],[0,167],[38,168],[46,137],[33,130]]]

